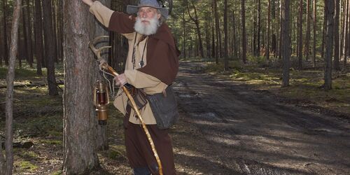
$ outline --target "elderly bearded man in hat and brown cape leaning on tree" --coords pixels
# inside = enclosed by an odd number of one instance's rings
[[[125,36],[129,42],[125,72],[116,77],[118,85],[128,83],[146,94],[156,94],[173,83],[179,70],[179,50],[165,23],[168,16],[166,8],[162,8],[156,0],[141,0],[138,6],[127,6],[127,13],[137,13],[137,18],[134,18],[110,10],[99,1],[82,1],[90,6],[90,12],[99,22]],[[146,134],[121,90],[113,104],[125,115],[125,146],[134,174],[159,174]],[[176,174],[168,130],[157,127],[149,104],[141,109],[141,116],[155,143],[163,173]]]

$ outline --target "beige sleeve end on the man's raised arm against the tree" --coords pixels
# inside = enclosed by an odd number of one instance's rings
[[[102,25],[109,27],[109,20],[111,20],[112,13],[114,12],[113,10],[107,8],[99,1],[94,1],[89,10]]]

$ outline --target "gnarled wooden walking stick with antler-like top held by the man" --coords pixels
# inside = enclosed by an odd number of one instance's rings
[[[109,64],[107,64],[104,59],[102,59],[100,53],[102,50],[106,49],[106,48],[111,48],[111,46],[104,46],[102,48],[95,48],[94,47],[94,43],[96,43],[97,41],[99,41],[99,39],[101,38],[109,38],[109,36],[98,36],[97,38],[94,38],[92,41],[90,41],[89,45],[90,48],[92,50],[92,52],[94,52],[94,55],[96,55],[97,57],[97,61],[100,63],[100,65],[102,66],[102,69],[104,69],[105,71],[108,71],[109,73],[111,73],[114,77],[118,76],[119,74],[111,67],[109,66]],[[148,141],[150,142],[152,151],[153,151],[153,155],[155,156],[155,160],[157,160],[158,163],[158,168],[159,168],[159,174],[162,175],[162,162],[160,162],[160,158],[159,155],[157,153],[157,150],[155,149],[155,145],[153,142],[153,139],[151,137],[150,132],[148,132],[148,129],[144,123],[144,119],[142,119],[141,117],[141,113],[139,111],[139,109],[137,108],[137,105],[134,101],[134,98],[131,96],[129,90],[127,90],[127,87],[123,86],[123,91],[125,92],[125,94],[127,95],[127,97],[130,99],[130,102],[132,103],[132,108],[134,109],[135,113],[137,113],[137,117],[139,117],[140,123],[142,125],[142,127],[144,128],[144,132],[147,136]]]

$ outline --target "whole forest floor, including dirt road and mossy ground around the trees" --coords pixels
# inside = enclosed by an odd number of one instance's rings
[[[278,68],[220,70],[181,62],[174,83],[181,118],[170,130],[178,174],[349,174],[349,72],[334,73],[333,90],[324,91],[321,69],[292,69],[283,88]],[[34,70],[16,73],[16,85],[34,86],[15,87],[14,174],[62,174],[62,95],[48,96]],[[5,93],[0,88],[2,137]],[[92,174],[132,174],[123,118],[110,109],[110,148],[99,152],[102,169]]]

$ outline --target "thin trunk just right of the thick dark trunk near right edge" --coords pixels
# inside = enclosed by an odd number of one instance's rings
[[[339,13],[340,13],[340,1],[334,0],[335,2],[335,18],[334,18],[334,69],[335,71],[340,70],[339,66]]]

